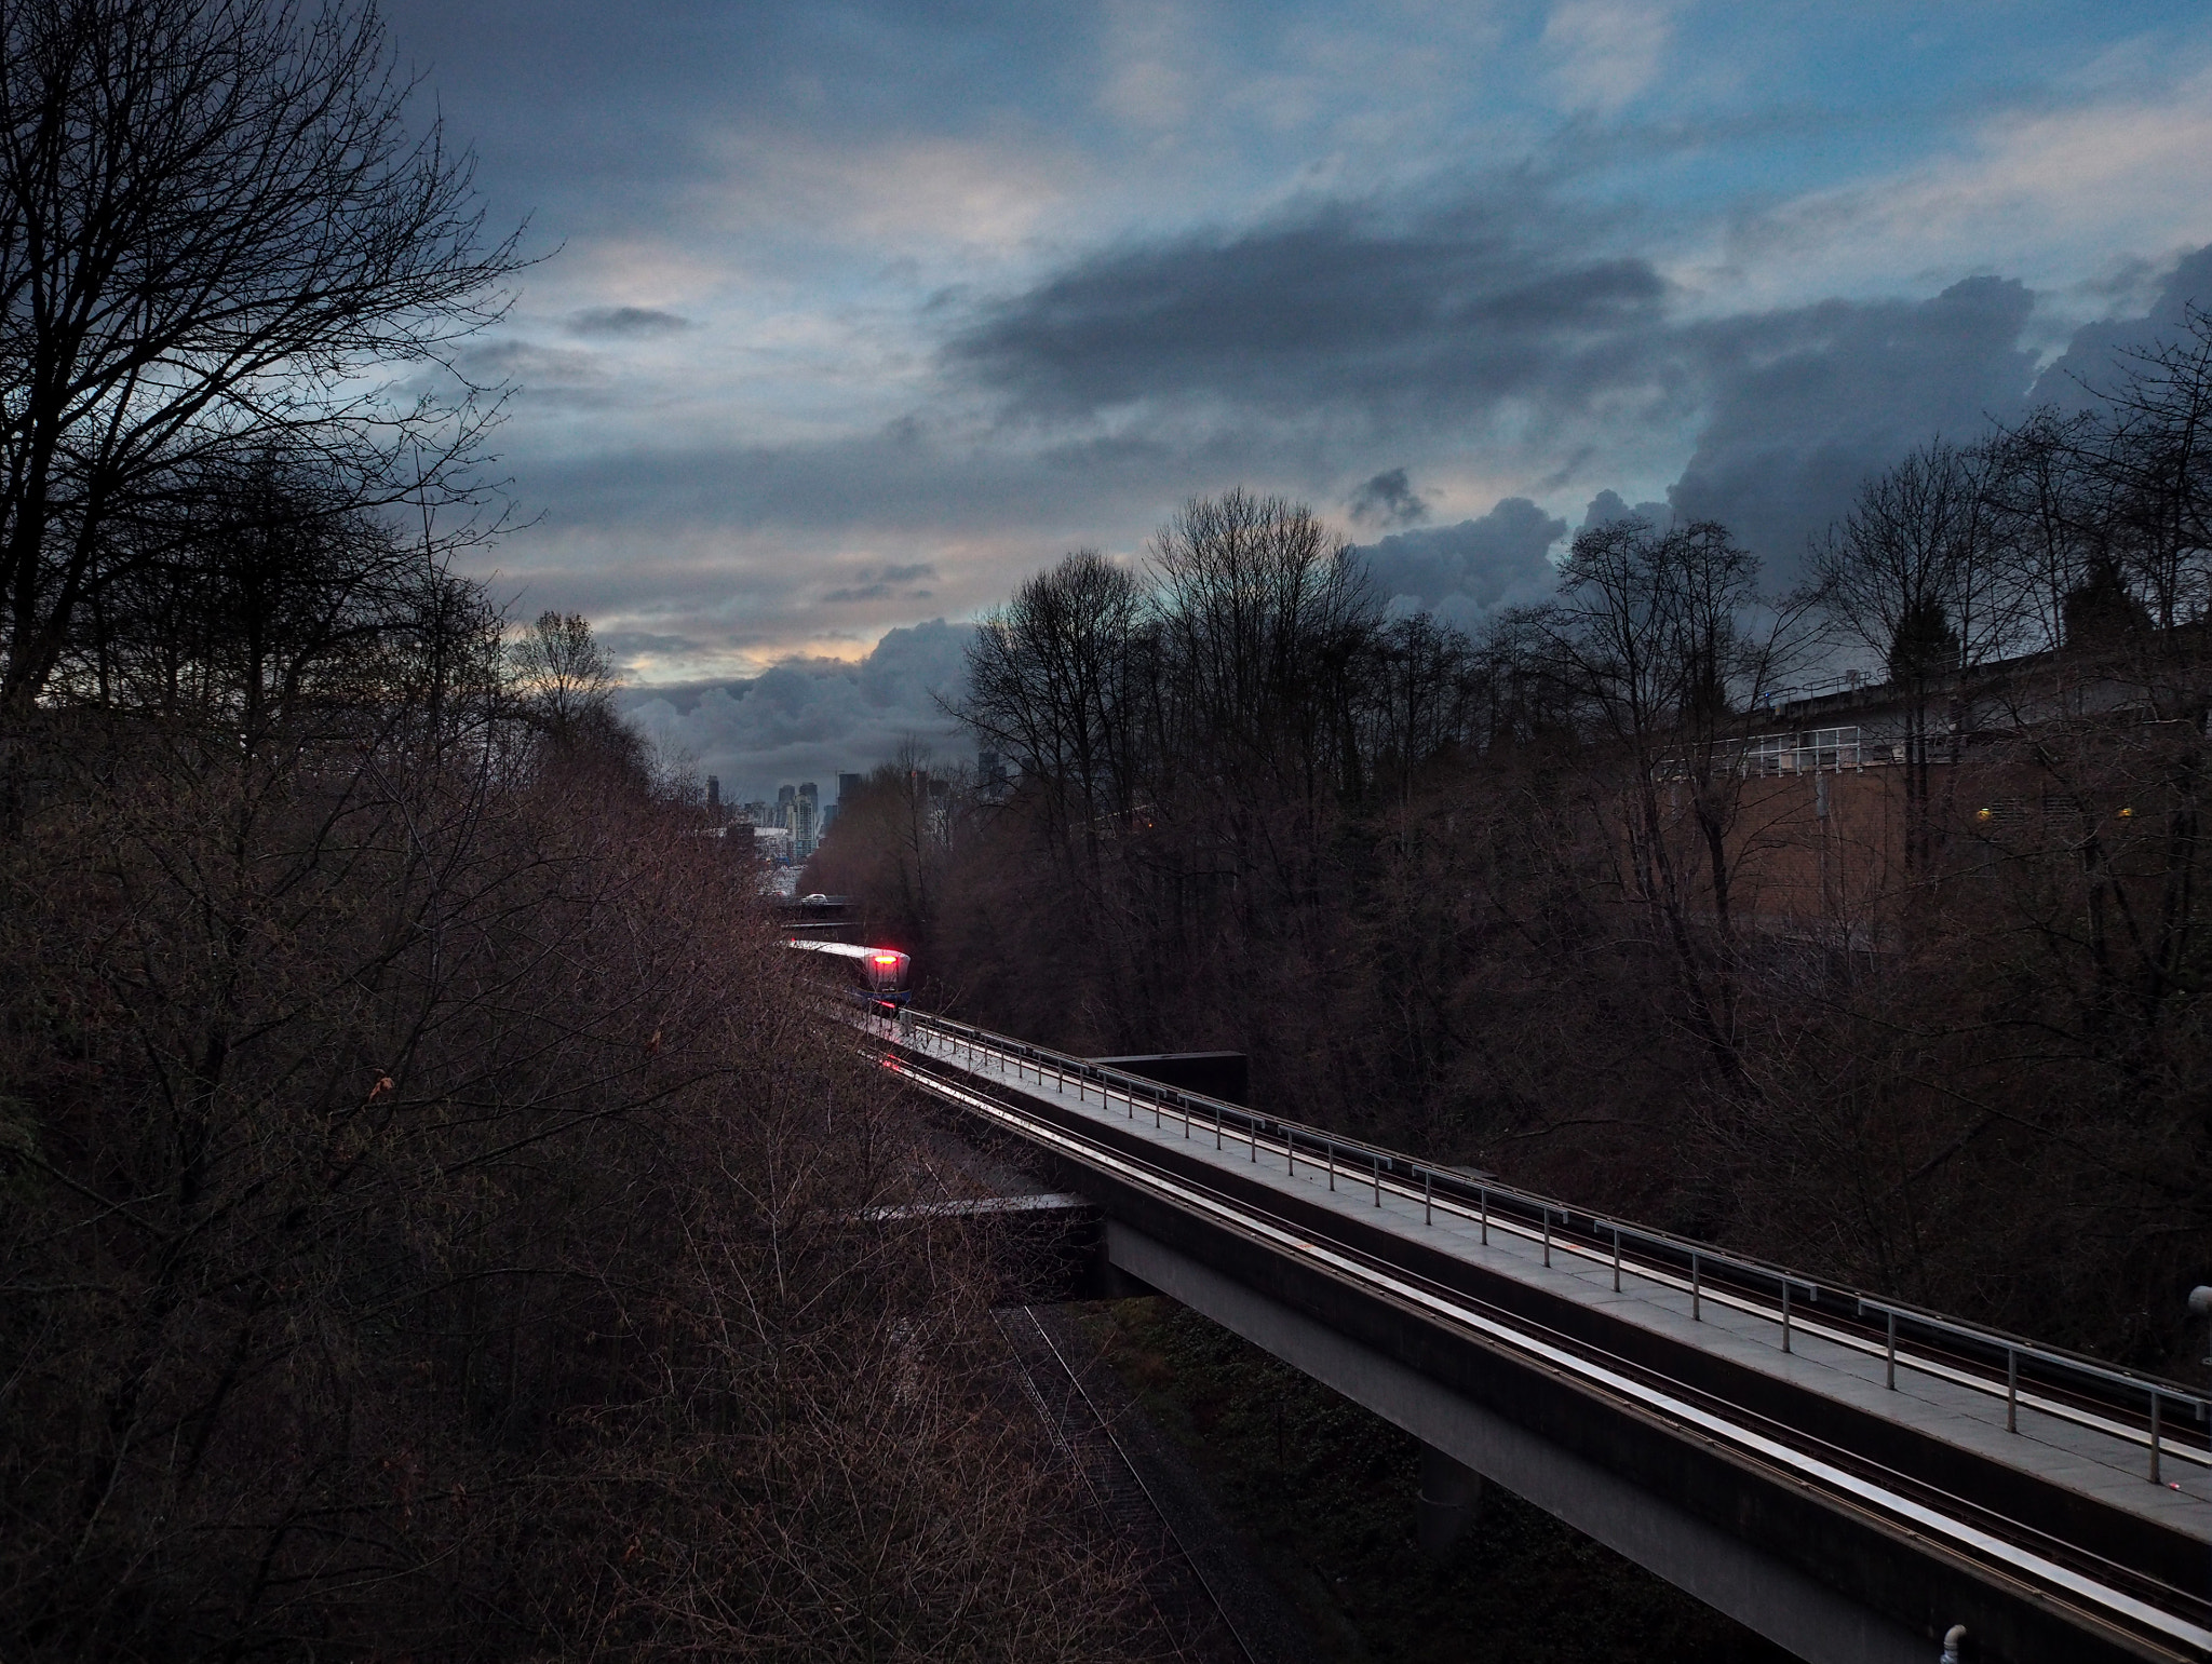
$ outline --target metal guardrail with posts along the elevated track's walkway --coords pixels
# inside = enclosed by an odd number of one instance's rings
[[[1542,1241],[1544,1263],[1551,1263],[1555,1248],[1584,1259],[1613,1266],[1613,1286],[1619,1290],[1624,1270],[1637,1277],[1670,1283],[1690,1294],[1692,1317],[1701,1317],[1708,1299],[1752,1310],[1752,1299],[1763,1299],[1763,1310],[1781,1323],[1783,1350],[1792,1348],[1794,1330],[1809,1321],[1820,1323],[1827,1339],[1854,1345],[1885,1359],[1887,1385],[1896,1387],[1896,1372],[1902,1363],[1909,1370],[1944,1376],[2006,1401],[2006,1429],[2020,1432],[2022,1403],[2064,1416],[2079,1425],[2095,1427],[2148,1447],[2150,1480],[2163,1483],[2161,1458],[2183,1456],[2199,1465],[2212,1465],[2212,1449],[2172,1443],[2168,1410],[2183,1410],[2199,1427],[2212,1432],[2212,1394],[2163,1381],[2137,1370],[2124,1370],[2099,1359],[2088,1359],[2062,1348],[2039,1345],[2026,1337],[2004,1330],[1964,1323],[1940,1312],[1929,1312],[1905,1301],[1891,1301],[1854,1288],[1840,1288],[1805,1277],[1785,1266],[1774,1266],[1747,1255],[1734,1255],[1712,1244],[1677,1237],[1666,1230],[1615,1219],[1590,1208],[1573,1208],[1555,1197],[1537,1195],[1513,1184],[1498,1184],[1484,1177],[1469,1177],[1455,1168],[1420,1162],[1378,1144],[1343,1137],[1338,1133],[1290,1122],[1276,1115],[1261,1115],[1239,1104],[1228,1104],[1203,1093],[1188,1093],[1144,1075],[1095,1064],[1051,1047],[978,1029],[953,1018],[927,1011],[902,1011],[898,1018],[878,1018],[891,1038],[898,1029],[922,1027],[945,1040],[964,1047],[969,1062],[980,1055],[1006,1058],[1026,1064],[1042,1080],[1053,1080],[1062,1091],[1075,1089],[1077,1100],[1086,1089],[1099,1089],[1099,1102],[1126,1104],[1130,1117],[1150,1109],[1155,1126],[1175,1117],[1190,1137],[1192,1129],[1212,1131],[1217,1148],[1228,1140],[1248,1144],[1252,1162],[1261,1151],[1270,1159],[1281,1155],[1287,1171],[1296,1173],[1301,1159],[1310,1168],[1327,1173],[1329,1188],[1336,1179],[1347,1184],[1367,1179],[1380,1206],[1385,1182],[1394,1195],[1420,1199],[1425,1210],[1444,1204],[1453,1213],[1478,1224],[1482,1239],[1493,1226]],[[1418,1186],[1418,1190],[1413,1188]],[[1798,1299],[1803,1297],[1803,1306]],[[1829,1328],[1838,1321],[1865,1323],[1869,1334],[1849,1334]],[[1913,1343],[1922,1350],[1913,1350]],[[1949,1352],[1949,1356],[1947,1356]],[[1984,1379],[1980,1365],[1991,1370]],[[2002,1383],[1995,1372],[2002,1367]],[[2046,1392],[2070,1394],[2081,1403],[2066,1403],[2042,1394],[2026,1394],[2022,1387],[2044,1387]],[[2143,1427],[2110,1416],[2141,1414]]]

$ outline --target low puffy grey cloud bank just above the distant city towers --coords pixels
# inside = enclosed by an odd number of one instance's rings
[[[967,624],[942,617],[885,635],[856,664],[787,659],[745,682],[641,688],[626,715],[659,743],[717,774],[726,799],[772,799],[779,786],[830,786],[920,739],[951,757],[960,728],[940,699],[964,688]],[[832,797],[834,792],[825,792]]]

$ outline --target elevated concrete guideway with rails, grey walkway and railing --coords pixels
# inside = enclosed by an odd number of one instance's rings
[[[942,1018],[860,1027],[1119,1226],[1891,1622],[1964,1622],[1984,1660],[2212,1657],[2188,1387]]]

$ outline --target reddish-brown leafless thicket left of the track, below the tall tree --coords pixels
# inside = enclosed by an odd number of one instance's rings
[[[0,843],[11,1655],[1115,1655],[907,1106],[487,613],[71,713]]]

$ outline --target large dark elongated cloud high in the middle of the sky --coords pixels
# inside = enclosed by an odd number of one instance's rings
[[[989,303],[949,363],[1046,416],[1197,398],[1298,414],[1571,405],[1663,332],[1644,259],[1506,181],[1411,219],[1323,204],[1228,237],[1082,259]]]

